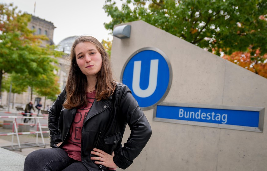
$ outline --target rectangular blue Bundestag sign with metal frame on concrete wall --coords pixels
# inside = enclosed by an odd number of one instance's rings
[[[243,109],[242,109],[243,108]],[[188,125],[262,132],[264,108],[201,105],[158,105],[154,120]]]

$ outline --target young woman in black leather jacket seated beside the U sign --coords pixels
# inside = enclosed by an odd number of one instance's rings
[[[126,169],[151,136],[143,111],[129,88],[113,81],[97,39],[76,39],[70,59],[66,87],[48,111],[52,148],[28,154],[24,170]],[[131,134],[122,147],[126,124]]]

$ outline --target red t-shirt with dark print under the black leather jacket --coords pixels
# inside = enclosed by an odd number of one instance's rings
[[[95,91],[86,93],[87,106],[77,109],[74,121],[69,128],[69,137],[67,143],[62,147],[74,160],[81,160],[81,140],[82,140],[82,127],[85,117],[90,110],[94,100]]]

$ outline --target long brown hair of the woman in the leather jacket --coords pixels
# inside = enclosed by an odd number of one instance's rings
[[[113,81],[113,73],[109,55],[106,53],[103,45],[92,36],[80,36],[72,45],[69,58],[71,60],[69,76],[66,83],[66,100],[63,106],[66,109],[87,105],[86,90],[87,78],[77,65],[75,47],[82,42],[93,43],[102,56],[102,67],[96,77],[96,99],[108,99],[115,90],[116,84]]]

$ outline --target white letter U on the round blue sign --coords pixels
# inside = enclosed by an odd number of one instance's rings
[[[140,88],[141,61],[134,62],[132,89],[135,95],[139,97],[149,97],[154,93],[158,81],[158,59],[150,61],[149,83],[145,90]]]

